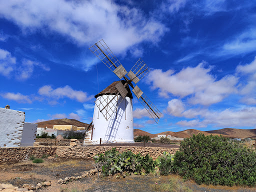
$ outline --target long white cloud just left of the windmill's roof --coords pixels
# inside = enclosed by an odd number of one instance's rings
[[[81,90],[74,90],[68,85],[64,87],[58,87],[56,89],[53,89],[50,85],[44,85],[39,88],[38,93],[40,95],[53,97],[56,99],[68,97],[79,102],[84,102],[92,98],[92,96],[88,96],[86,92]]]

